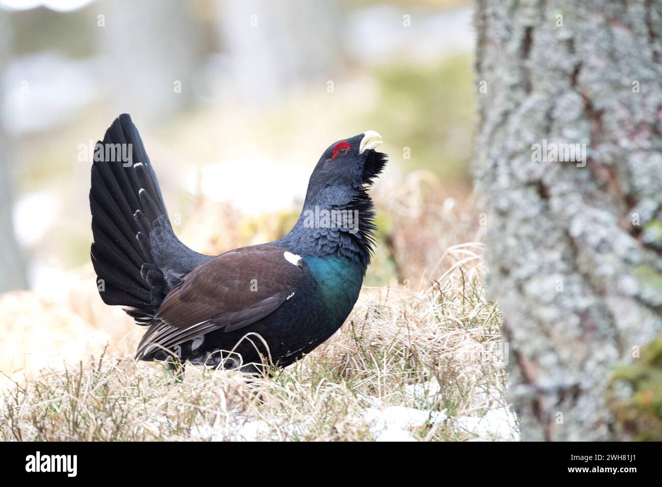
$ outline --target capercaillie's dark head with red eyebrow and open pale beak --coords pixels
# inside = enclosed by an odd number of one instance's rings
[[[375,150],[381,143],[381,135],[366,131],[328,146],[310,176],[306,204],[343,207],[365,193],[387,162],[387,155]]]

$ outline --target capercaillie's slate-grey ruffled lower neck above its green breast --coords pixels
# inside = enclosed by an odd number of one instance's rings
[[[342,207],[307,202],[293,229],[277,243],[305,256],[356,262],[365,274],[375,244],[374,218],[373,202],[365,192]]]

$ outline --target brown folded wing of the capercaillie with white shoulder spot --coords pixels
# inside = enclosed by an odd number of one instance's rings
[[[285,248],[238,248],[193,269],[167,294],[138,345],[148,358],[209,331],[234,331],[273,312],[299,289],[307,266]]]

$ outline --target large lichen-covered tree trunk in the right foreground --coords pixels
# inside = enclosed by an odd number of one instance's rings
[[[477,0],[475,27],[474,173],[522,439],[628,439],[610,379],[662,329],[662,3]]]

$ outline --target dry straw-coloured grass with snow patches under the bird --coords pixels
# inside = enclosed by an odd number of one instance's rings
[[[440,266],[448,270],[418,292],[365,288],[332,339],[269,378],[189,366],[178,382],[162,364],[117,350],[15,376],[0,438],[512,439],[514,429],[495,426],[495,411],[507,410],[505,373],[480,251],[450,248]]]

